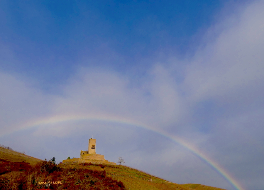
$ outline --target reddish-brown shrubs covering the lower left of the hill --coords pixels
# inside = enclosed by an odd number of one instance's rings
[[[100,165],[104,168],[103,165]],[[65,169],[51,162],[42,162],[31,166],[26,162],[9,162],[0,159],[0,189],[33,190],[44,189],[39,182],[60,181],[62,184],[50,184],[50,189],[87,189],[87,190],[124,190],[121,181],[106,176],[105,171],[89,169]]]

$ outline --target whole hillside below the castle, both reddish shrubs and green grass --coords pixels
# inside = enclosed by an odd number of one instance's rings
[[[175,184],[143,171],[120,165],[52,164],[0,148],[0,189],[116,190],[223,190],[200,184]]]

